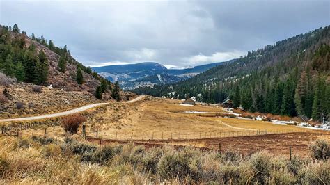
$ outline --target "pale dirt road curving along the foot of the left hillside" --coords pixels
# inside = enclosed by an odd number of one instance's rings
[[[136,97],[135,99],[132,99],[132,100],[129,100],[127,102],[124,102],[124,103],[133,103],[133,102],[136,102],[136,101],[139,101],[140,99],[143,99],[143,97],[145,96],[139,96],[139,97]],[[54,118],[54,117],[59,117],[59,116],[63,116],[63,115],[69,115],[69,114],[72,114],[72,113],[79,113],[81,111],[86,111],[90,108],[93,108],[95,106],[101,106],[101,105],[104,105],[104,104],[109,104],[109,103],[98,103],[98,104],[89,104],[89,105],[86,105],[86,106],[81,106],[79,108],[74,108],[70,111],[65,111],[65,112],[61,112],[61,113],[52,113],[52,114],[47,114],[47,115],[38,115],[38,116],[33,116],[33,117],[26,117],[26,118],[10,118],[10,119],[3,119],[3,120],[0,120],[0,122],[19,122],[19,121],[27,121],[27,120],[41,120],[41,119],[45,119],[45,118]]]

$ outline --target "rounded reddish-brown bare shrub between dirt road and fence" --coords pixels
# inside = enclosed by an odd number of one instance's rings
[[[81,123],[86,122],[86,118],[80,114],[67,115],[63,120],[61,126],[65,132],[70,134],[77,134]]]

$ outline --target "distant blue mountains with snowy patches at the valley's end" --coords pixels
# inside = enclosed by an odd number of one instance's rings
[[[212,67],[230,63],[235,59],[221,62],[198,65],[184,69],[167,69],[159,63],[136,63],[127,65],[107,65],[92,69],[110,81],[118,81],[123,89],[139,87],[153,87],[168,83],[177,83],[184,79],[196,76]]]

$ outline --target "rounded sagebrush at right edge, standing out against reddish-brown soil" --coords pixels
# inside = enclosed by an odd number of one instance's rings
[[[309,146],[311,156],[317,160],[327,160],[330,156],[330,145],[327,140],[316,140]]]

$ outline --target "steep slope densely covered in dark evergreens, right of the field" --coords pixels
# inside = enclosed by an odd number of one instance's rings
[[[212,103],[229,96],[235,107],[242,106],[246,111],[327,120],[329,31],[327,26],[296,35],[249,51],[234,63],[219,65],[174,86],[139,88],[135,92],[178,99],[195,96],[198,101]]]

